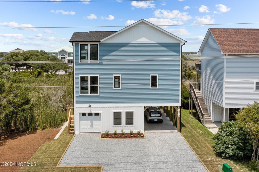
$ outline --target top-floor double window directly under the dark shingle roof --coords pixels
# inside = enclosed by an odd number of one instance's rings
[[[85,43],[80,44],[80,62],[95,62],[99,60],[99,44],[97,43]]]

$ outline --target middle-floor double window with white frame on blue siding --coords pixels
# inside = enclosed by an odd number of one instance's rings
[[[80,75],[80,95],[99,95],[99,75]]]

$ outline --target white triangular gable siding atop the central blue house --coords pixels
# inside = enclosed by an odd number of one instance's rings
[[[181,42],[172,36],[140,22],[103,42]]]

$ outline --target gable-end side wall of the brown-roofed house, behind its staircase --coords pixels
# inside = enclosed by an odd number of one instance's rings
[[[223,107],[224,59],[221,49],[211,33],[201,52],[201,94],[212,115],[212,102]]]

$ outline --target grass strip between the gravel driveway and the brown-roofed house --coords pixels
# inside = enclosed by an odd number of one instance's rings
[[[196,116],[196,114],[194,114],[194,116]],[[182,109],[181,111],[181,126],[181,133],[184,138],[211,172],[221,172],[218,165],[222,166],[224,162],[228,163],[228,165],[233,168],[234,172],[249,171],[245,162],[236,162],[217,157],[212,148],[212,137],[214,134],[191,116],[191,114],[188,113],[188,110]]]

